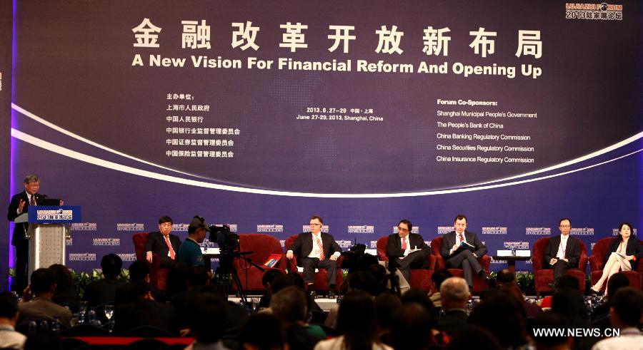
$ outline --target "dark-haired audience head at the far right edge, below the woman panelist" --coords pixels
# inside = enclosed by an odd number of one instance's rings
[[[618,328],[636,327],[643,317],[643,294],[632,287],[623,287],[614,294],[609,308],[612,325]]]

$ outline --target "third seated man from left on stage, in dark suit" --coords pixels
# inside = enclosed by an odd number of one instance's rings
[[[401,220],[397,224],[397,233],[389,235],[387,243],[389,266],[393,264],[397,267],[409,283],[411,282],[411,269],[429,267],[427,257],[431,254],[431,247],[424,243],[424,238],[421,235],[411,233],[412,229],[413,225],[409,220]]]

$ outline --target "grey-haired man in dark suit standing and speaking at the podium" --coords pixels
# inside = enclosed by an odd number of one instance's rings
[[[27,175],[24,178],[24,192],[11,197],[6,218],[9,221],[16,220],[16,217],[29,211],[30,205],[44,204],[46,195],[40,195],[40,179],[36,175]],[[63,201],[60,201],[63,205]],[[16,277],[11,285],[11,290],[21,293],[27,285],[27,262],[29,261],[29,240],[25,237],[26,224],[14,225],[14,235],[11,237],[11,245],[16,247],[16,264],[14,269]]]

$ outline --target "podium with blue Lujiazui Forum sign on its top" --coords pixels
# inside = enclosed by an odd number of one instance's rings
[[[71,205],[38,205],[30,207],[28,213],[14,222],[29,222],[25,233],[29,240],[28,276],[31,276],[41,267],[66,263],[66,240],[71,238],[71,223],[81,222],[81,212],[80,207]]]

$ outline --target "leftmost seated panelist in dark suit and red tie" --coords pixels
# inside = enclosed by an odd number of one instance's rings
[[[171,235],[172,218],[164,216],[159,219],[159,232],[149,232],[145,243],[146,259],[151,264],[152,253],[161,257],[161,267],[171,267],[176,261],[176,252],[179,252],[181,240],[179,236]]]

